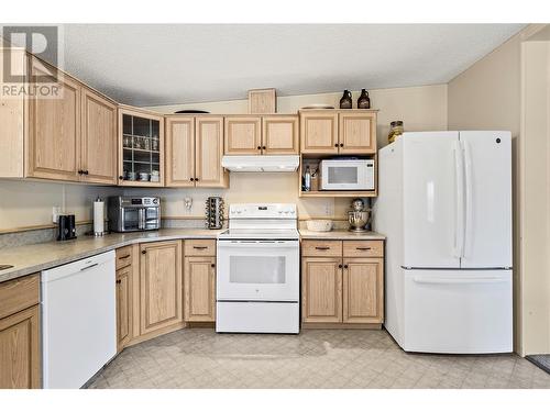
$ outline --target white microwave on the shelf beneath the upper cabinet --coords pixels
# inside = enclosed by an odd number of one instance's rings
[[[374,190],[373,159],[321,160],[321,190]]]

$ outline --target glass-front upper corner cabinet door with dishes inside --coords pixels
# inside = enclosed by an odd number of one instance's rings
[[[164,119],[119,109],[119,185],[164,185]]]

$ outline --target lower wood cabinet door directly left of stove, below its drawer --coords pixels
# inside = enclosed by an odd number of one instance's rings
[[[216,321],[216,257],[185,258],[184,291],[186,321]]]

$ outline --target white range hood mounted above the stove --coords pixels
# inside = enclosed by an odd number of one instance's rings
[[[221,166],[230,171],[296,171],[300,156],[223,156]]]

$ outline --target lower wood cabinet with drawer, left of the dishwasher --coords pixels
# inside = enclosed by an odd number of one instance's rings
[[[41,387],[38,275],[0,283],[0,389]]]

